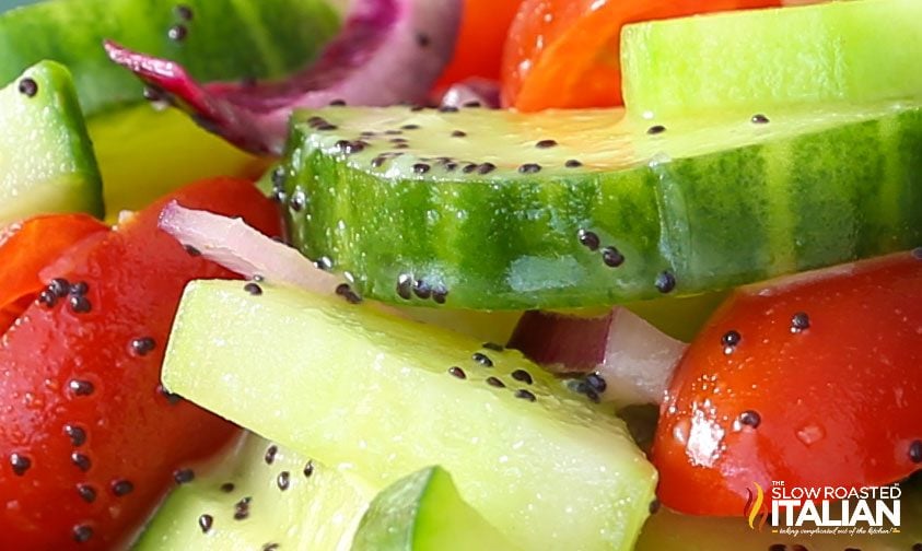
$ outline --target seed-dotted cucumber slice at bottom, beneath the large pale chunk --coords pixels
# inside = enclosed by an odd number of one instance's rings
[[[192,472],[195,479],[157,509],[135,551],[257,551],[272,543],[347,551],[374,497],[348,474],[256,435]]]

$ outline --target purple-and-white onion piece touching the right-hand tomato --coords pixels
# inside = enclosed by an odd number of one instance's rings
[[[596,318],[528,312],[510,347],[555,373],[595,373],[597,377],[576,385],[580,391],[628,406],[663,400],[687,344],[616,307]]]

